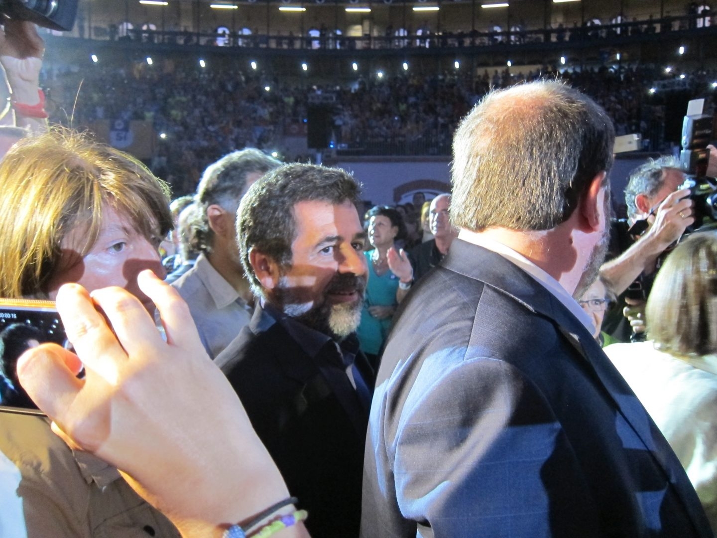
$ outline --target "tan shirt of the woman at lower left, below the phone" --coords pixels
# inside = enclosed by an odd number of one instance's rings
[[[138,496],[117,469],[88,453],[73,452],[44,417],[0,412],[0,452],[19,471],[1,481],[2,498],[22,502],[8,538],[179,538],[179,532]],[[7,472],[6,477],[13,476]],[[16,474],[14,476],[17,476]],[[4,507],[0,507],[4,510]],[[24,527],[22,529],[21,527]],[[8,529],[5,529],[7,531]]]

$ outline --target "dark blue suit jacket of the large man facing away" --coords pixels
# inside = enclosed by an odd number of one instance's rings
[[[371,407],[362,536],[712,535],[630,387],[516,265],[456,240],[397,317]]]

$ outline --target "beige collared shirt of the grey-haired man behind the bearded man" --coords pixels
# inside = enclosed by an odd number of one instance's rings
[[[189,305],[199,338],[214,359],[252,319],[252,308],[212,267],[204,254],[172,283]]]

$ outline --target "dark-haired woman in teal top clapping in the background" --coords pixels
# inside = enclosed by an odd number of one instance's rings
[[[369,211],[369,242],[374,249],[364,253],[369,264],[369,282],[356,335],[374,367],[378,366],[381,346],[389,334],[396,307],[413,283],[408,256],[403,249],[394,247],[394,241],[402,239],[405,233],[404,222],[396,209],[376,206]]]

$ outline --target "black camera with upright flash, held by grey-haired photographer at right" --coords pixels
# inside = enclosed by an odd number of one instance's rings
[[[682,124],[680,168],[687,176],[680,189],[690,189],[695,223],[687,232],[717,227],[717,179],[707,175],[710,160],[708,143],[713,136],[710,115],[685,115]]]

